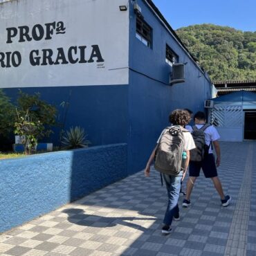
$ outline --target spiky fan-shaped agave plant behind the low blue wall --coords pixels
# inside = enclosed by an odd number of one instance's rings
[[[62,145],[64,149],[77,149],[80,147],[88,147],[89,140],[86,140],[86,134],[82,127],[71,127],[69,131],[66,131],[62,138]]]

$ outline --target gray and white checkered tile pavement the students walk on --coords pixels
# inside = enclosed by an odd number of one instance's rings
[[[221,143],[221,152],[219,177],[231,205],[221,207],[201,176],[171,235],[161,235],[167,196],[152,170],[1,234],[0,255],[256,255],[256,142]]]

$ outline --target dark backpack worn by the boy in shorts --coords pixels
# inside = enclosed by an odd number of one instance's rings
[[[208,127],[210,127],[208,124],[203,125],[200,129],[198,129],[196,125],[192,127],[193,131],[191,132],[191,135],[194,139],[196,148],[190,150],[190,161],[201,162],[203,161],[205,154],[208,154],[209,146],[205,144],[204,134],[205,129]]]

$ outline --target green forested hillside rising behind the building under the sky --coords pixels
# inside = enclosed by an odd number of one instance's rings
[[[176,33],[212,81],[256,80],[256,31],[203,24]]]

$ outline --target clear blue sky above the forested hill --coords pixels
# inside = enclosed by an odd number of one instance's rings
[[[172,28],[216,24],[256,31],[256,0],[153,0]]]

